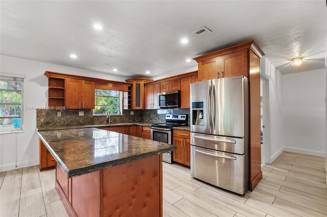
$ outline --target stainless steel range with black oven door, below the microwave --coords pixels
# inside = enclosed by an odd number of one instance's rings
[[[187,126],[187,125],[188,125],[188,115],[167,114],[166,123],[151,125],[151,140],[172,144],[173,127]],[[172,164],[173,162],[172,152],[167,152],[162,154],[162,161]]]

